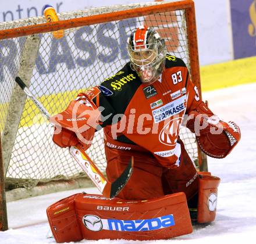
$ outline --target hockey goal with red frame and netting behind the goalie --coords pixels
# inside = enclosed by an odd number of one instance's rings
[[[184,60],[201,96],[193,1],[115,5],[59,13],[58,17],[60,21],[54,23],[46,23],[42,16],[0,23],[0,163],[5,175],[1,182],[3,186],[5,178],[10,199],[77,188],[86,179],[68,150],[52,142],[53,128],[17,87],[16,76],[49,113],[62,112],[78,92],[99,85],[129,61],[127,37],[146,24],[165,39],[170,55]],[[58,40],[51,33],[57,30],[65,30]],[[207,166],[194,135],[184,127],[180,133],[195,164]],[[97,132],[87,152],[104,171],[102,132]],[[45,182],[55,184],[46,187]],[[3,190],[1,210],[5,208]]]

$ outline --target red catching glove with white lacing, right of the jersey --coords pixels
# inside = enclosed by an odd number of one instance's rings
[[[218,159],[226,157],[241,138],[236,123],[220,120],[204,102],[189,113],[187,128],[195,133],[202,152]]]

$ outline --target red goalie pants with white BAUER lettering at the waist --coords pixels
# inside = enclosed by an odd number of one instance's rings
[[[140,146],[116,142],[107,137],[105,153],[108,180],[116,180],[125,170],[131,156],[134,157],[133,174],[118,197],[122,199],[151,199],[184,192],[187,200],[193,198],[198,191],[198,174],[183,142],[179,140],[179,143],[181,146],[180,165],[168,170],[159,164],[152,153]]]

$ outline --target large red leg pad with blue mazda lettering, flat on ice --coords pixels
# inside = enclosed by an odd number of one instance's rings
[[[47,209],[56,242],[157,240],[193,231],[183,192],[150,200],[106,199],[102,195],[83,193],[70,198],[72,200],[63,199]]]

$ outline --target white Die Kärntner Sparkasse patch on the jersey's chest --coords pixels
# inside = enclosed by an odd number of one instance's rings
[[[186,109],[186,98],[184,95],[181,98],[176,99],[173,102],[169,102],[158,109],[152,110],[152,115],[154,117],[154,122],[159,123],[163,120],[166,120],[175,114],[179,114]]]

